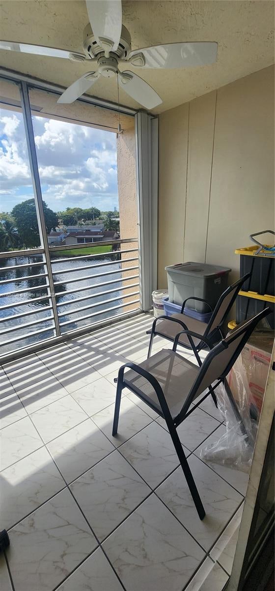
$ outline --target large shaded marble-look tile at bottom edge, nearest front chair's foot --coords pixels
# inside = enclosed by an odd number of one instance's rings
[[[103,548],[127,591],[182,591],[205,556],[154,493]]]

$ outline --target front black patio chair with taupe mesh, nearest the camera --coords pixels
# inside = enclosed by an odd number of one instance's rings
[[[246,433],[236,401],[227,384],[226,376],[258,322],[269,312],[269,308],[266,308],[257,316],[247,320],[242,326],[236,327],[225,339],[210,350],[204,362],[200,362],[200,366],[188,361],[188,359],[183,358],[176,352],[179,338],[183,333],[188,335],[190,343],[193,341],[194,333],[184,330],[175,337],[173,349],[158,351],[139,365],[130,362],[125,363],[118,371],[114,423],[112,426],[113,436],[117,434],[118,429],[121,392],[123,388],[129,388],[131,392],[134,392],[138,398],[143,400],[150,408],[153,408],[166,421],[200,519],[203,519],[206,513],[178,437],[177,427],[211,394],[211,391],[214,391],[223,382],[230,404],[237,420],[240,422],[241,432],[248,439],[249,436]],[[200,338],[204,340],[203,337]],[[196,349],[194,343],[193,349]],[[125,369],[128,368],[130,371],[125,372]],[[191,402],[196,401],[203,392],[206,392],[203,398],[197,404],[191,405]]]

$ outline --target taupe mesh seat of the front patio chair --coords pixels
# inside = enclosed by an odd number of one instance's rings
[[[158,351],[138,365],[157,379],[163,389],[171,416],[176,417],[183,407],[200,368],[168,349]],[[130,389],[135,388],[144,401],[153,406],[157,413],[163,415],[157,394],[146,378],[131,369],[124,373],[124,384]]]

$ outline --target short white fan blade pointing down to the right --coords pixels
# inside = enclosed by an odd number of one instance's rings
[[[118,83],[127,95],[146,109],[154,109],[163,102],[155,90],[133,72],[118,72]]]

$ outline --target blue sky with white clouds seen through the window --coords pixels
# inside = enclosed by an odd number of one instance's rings
[[[44,117],[32,122],[48,207],[118,208],[116,135]],[[0,109],[0,210],[33,196],[22,113]]]

